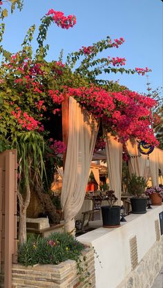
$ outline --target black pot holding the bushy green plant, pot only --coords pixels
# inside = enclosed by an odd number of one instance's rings
[[[131,207],[133,214],[146,213],[146,198],[131,198]]]

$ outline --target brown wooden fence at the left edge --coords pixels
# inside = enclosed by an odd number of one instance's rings
[[[17,262],[17,151],[0,153],[0,288],[12,288]]]

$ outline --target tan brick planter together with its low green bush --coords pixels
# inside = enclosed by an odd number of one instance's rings
[[[68,233],[29,238],[19,245],[18,260],[12,266],[12,288],[95,287],[93,249]]]

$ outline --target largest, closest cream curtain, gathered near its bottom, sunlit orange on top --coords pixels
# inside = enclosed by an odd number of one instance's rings
[[[75,230],[75,215],[84,202],[98,129],[98,122],[70,97],[68,146],[61,190],[65,229],[70,233]]]

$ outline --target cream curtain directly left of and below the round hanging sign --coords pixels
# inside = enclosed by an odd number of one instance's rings
[[[128,160],[128,170],[130,175],[136,174],[137,176],[145,177],[148,179],[148,169],[147,169],[147,155],[141,154],[137,149],[136,140],[128,140],[126,142],[126,148],[130,159]]]

